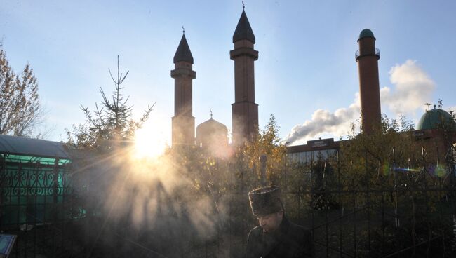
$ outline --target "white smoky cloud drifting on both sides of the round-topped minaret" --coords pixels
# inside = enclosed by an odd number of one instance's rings
[[[387,108],[394,116],[400,114],[415,116],[417,111],[424,110],[425,103],[431,102],[435,83],[421,67],[417,66],[416,61],[407,60],[403,64],[391,67],[389,79],[394,87],[380,89],[382,113],[387,113],[385,112]],[[359,93],[356,93],[354,102],[349,107],[337,109],[334,113],[323,109],[314,111],[311,120],[295,125],[291,129],[285,142],[304,144],[307,140],[315,139],[317,135],[329,134],[334,137],[347,135],[351,123],[359,118],[360,111]]]

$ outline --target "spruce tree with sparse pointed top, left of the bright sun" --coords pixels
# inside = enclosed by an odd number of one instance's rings
[[[100,88],[100,104],[95,104],[93,111],[81,105],[85,123],[67,131],[67,149],[72,160],[73,205],[76,212],[83,211],[86,221],[85,233],[79,240],[91,247],[87,255],[91,257],[107,255],[98,252],[107,252],[109,244],[114,243],[110,237],[116,236],[117,226],[132,214],[128,210],[119,210],[131,205],[119,200],[133,200],[130,196],[142,186],[131,181],[133,177],[130,175],[135,168],[129,152],[135,131],[147,121],[154,107],[148,106],[139,119],[134,119],[133,106],[122,94],[128,72],[121,73],[119,56],[116,72],[113,75],[109,69],[114,82],[112,95],[107,96]],[[102,233],[109,237],[98,241]],[[116,238],[116,241],[119,240]]]

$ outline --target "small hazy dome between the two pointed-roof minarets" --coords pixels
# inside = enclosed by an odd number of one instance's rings
[[[220,144],[228,144],[228,129],[211,116],[208,121],[196,127],[196,146],[210,147]]]

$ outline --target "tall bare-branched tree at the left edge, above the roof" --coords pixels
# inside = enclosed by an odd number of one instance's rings
[[[0,134],[32,136],[41,123],[38,81],[30,64],[15,74],[0,44]]]

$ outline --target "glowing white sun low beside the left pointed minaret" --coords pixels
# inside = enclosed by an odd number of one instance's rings
[[[145,123],[135,133],[134,158],[155,158],[163,154],[168,141],[166,128],[157,123]]]

